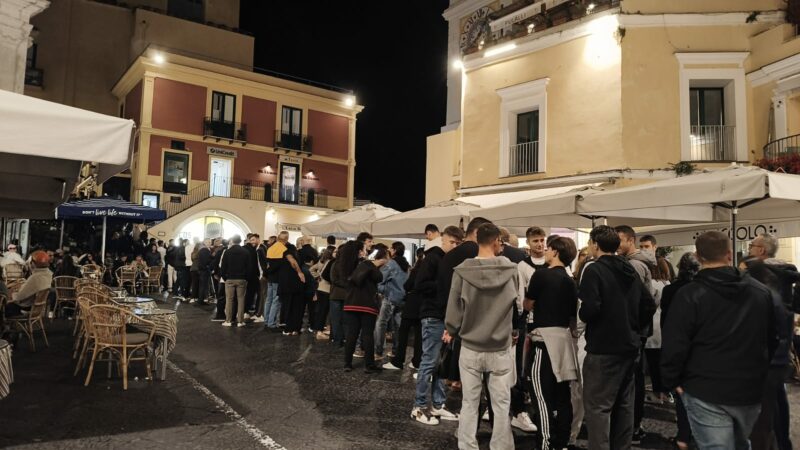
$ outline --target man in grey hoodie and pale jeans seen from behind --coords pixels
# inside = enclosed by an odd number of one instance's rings
[[[443,340],[461,338],[460,423],[458,448],[477,449],[478,406],[485,379],[494,410],[492,449],[514,448],[509,408],[515,381],[512,329],[519,296],[517,266],[504,256],[500,230],[481,225],[478,256],[465,260],[453,273]]]

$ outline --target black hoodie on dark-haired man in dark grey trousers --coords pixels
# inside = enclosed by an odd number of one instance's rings
[[[631,263],[621,256],[601,256],[584,270],[578,297],[586,352],[634,357],[656,304]]]

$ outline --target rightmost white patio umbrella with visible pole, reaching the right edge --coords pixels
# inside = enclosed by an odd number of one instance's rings
[[[737,220],[800,218],[798,201],[800,176],[732,166],[596,193],[582,198],[579,210],[585,214],[615,210],[624,216],[626,211],[642,208],[655,211],[688,205],[698,208],[698,221],[729,223],[729,229],[736,230]],[[709,216],[711,220],[703,220]],[[735,248],[737,233],[730,235]]]

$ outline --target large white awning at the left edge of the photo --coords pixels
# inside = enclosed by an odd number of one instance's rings
[[[0,90],[0,216],[52,218],[82,162],[100,163],[104,178],[129,166],[133,129],[132,120]]]

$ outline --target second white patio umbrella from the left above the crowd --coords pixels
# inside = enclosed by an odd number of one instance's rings
[[[439,230],[444,230],[448,225],[463,228],[465,222],[469,221],[469,212],[476,208],[478,205],[447,200],[377,220],[372,224],[372,234],[421,239],[428,224],[436,225]]]

